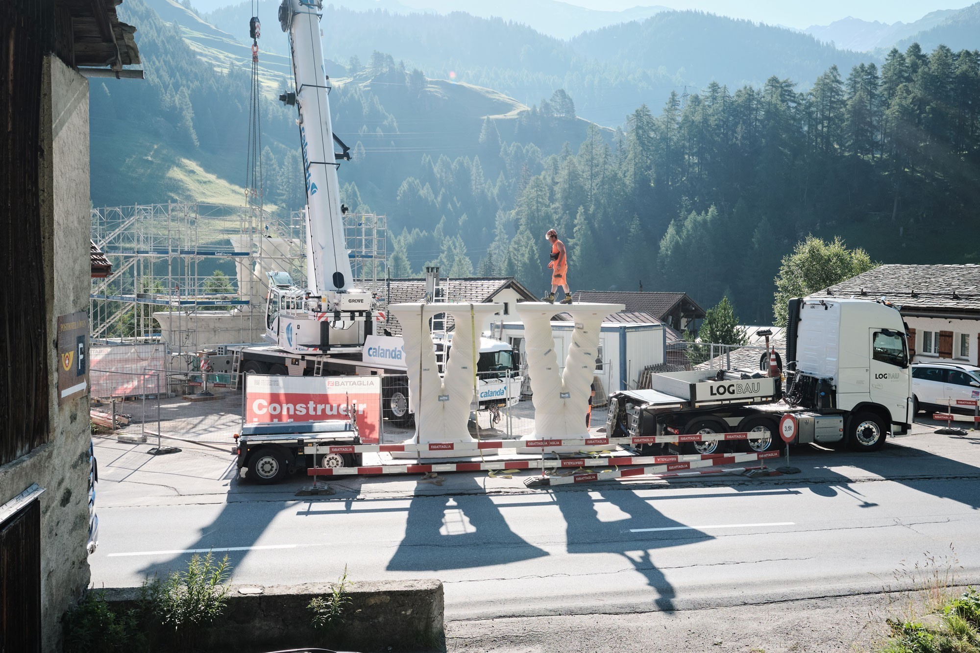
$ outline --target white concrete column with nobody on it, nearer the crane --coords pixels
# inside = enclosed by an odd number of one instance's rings
[[[416,414],[416,442],[471,442],[466,428],[476,387],[479,338],[490,317],[503,304],[393,304],[388,307],[402,325],[409,400]],[[446,374],[439,377],[432,345],[431,319],[445,313],[456,324]],[[458,456],[453,451],[421,457]],[[414,455],[413,455],[414,457]]]

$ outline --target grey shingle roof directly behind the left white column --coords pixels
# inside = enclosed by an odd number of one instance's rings
[[[439,284],[446,288],[447,302],[471,302],[482,304],[489,302],[493,297],[504,288],[512,288],[523,297],[524,301],[536,301],[537,298],[522,283],[513,276],[466,276],[463,278],[439,279]],[[425,299],[425,279],[424,278],[392,278],[380,279],[371,283],[370,281],[359,281],[363,289],[377,294],[381,298],[381,305],[387,307],[389,304],[402,304],[408,302],[420,302]],[[388,315],[384,326],[392,335],[399,335],[402,326],[394,316]],[[452,320],[450,325],[452,327]]]

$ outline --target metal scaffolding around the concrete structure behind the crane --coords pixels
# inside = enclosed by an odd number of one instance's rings
[[[113,265],[110,276],[92,279],[93,343],[160,342],[153,314],[166,311],[188,324],[204,314],[234,315],[261,330],[265,306],[254,304],[266,296],[268,280],[258,276],[252,282],[259,286],[243,291],[243,271],[261,262],[297,282],[306,278],[303,212],[283,219],[259,207],[169,202],[96,208],[91,216],[92,240]],[[355,280],[385,274],[386,223],[373,214],[344,216]]]

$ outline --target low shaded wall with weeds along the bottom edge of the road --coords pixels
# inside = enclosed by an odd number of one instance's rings
[[[314,563],[319,564],[319,563]],[[352,651],[438,649],[443,641],[442,582],[436,579],[358,582],[349,588],[351,604],[332,633],[311,625],[307,608],[315,596],[330,593],[329,583],[234,585],[224,615],[209,629],[210,653],[260,653],[302,646]],[[139,588],[106,589],[119,608],[135,607]]]

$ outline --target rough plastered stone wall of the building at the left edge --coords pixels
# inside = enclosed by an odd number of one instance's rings
[[[89,580],[88,398],[58,405],[58,316],[88,308],[88,81],[61,60],[44,64],[41,102],[41,226],[47,307],[48,441],[0,467],[0,504],[31,483],[41,502],[43,650],[56,651],[61,616]],[[17,279],[8,279],[17,282]]]

